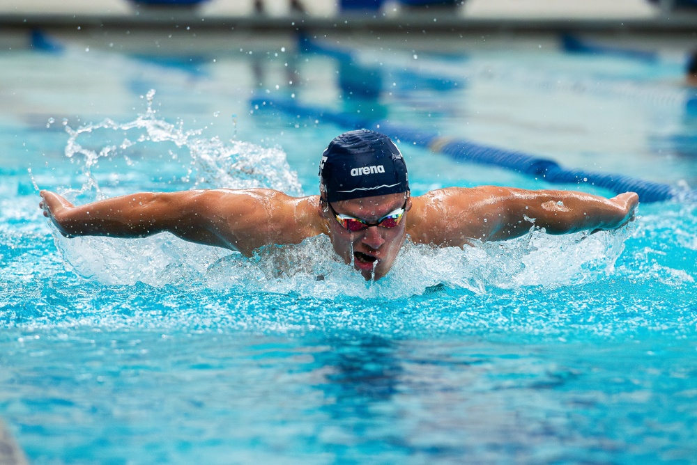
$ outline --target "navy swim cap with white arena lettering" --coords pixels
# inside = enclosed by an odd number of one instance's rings
[[[409,190],[406,163],[388,136],[368,129],[344,132],[324,150],[319,177],[328,202]]]

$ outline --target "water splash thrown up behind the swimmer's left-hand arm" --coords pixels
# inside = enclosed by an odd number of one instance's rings
[[[82,164],[87,178],[80,189],[66,191],[66,198],[105,198],[104,184],[112,188],[109,194],[123,194],[128,188],[115,187],[135,184],[138,178],[158,190],[269,187],[302,195],[298,176],[280,148],[207,139],[200,129],[185,130],[182,121],[175,125],[158,119],[154,96],[151,90],[145,113],[128,123],[107,118],[77,129],[66,127],[65,155]]]

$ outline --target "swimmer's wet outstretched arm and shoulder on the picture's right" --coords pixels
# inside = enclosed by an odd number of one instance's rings
[[[634,219],[638,205],[634,192],[604,198],[576,191],[494,186],[441,189],[419,200],[424,218],[430,217],[433,226],[426,221],[418,226],[429,229],[432,242],[451,246],[464,245],[468,239],[512,239],[533,224],[549,234],[615,229]]]

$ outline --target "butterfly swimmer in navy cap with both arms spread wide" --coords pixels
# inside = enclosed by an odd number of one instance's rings
[[[404,158],[384,134],[360,129],[337,136],[322,155],[320,195],[272,189],[139,193],[75,206],[41,191],[44,215],[66,237],[181,239],[252,255],[268,244],[328,235],[346,265],[366,279],[390,271],[405,240],[463,247],[526,234],[611,230],[634,219],[638,196],[607,199],[575,191],[450,187],[411,196]]]

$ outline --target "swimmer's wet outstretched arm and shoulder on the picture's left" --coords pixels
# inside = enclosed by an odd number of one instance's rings
[[[143,192],[79,206],[49,191],[41,191],[41,197],[44,215],[66,237],[146,237],[167,231],[249,255],[257,247],[300,242],[312,234],[294,227],[301,215],[288,214],[307,198],[270,189]]]

